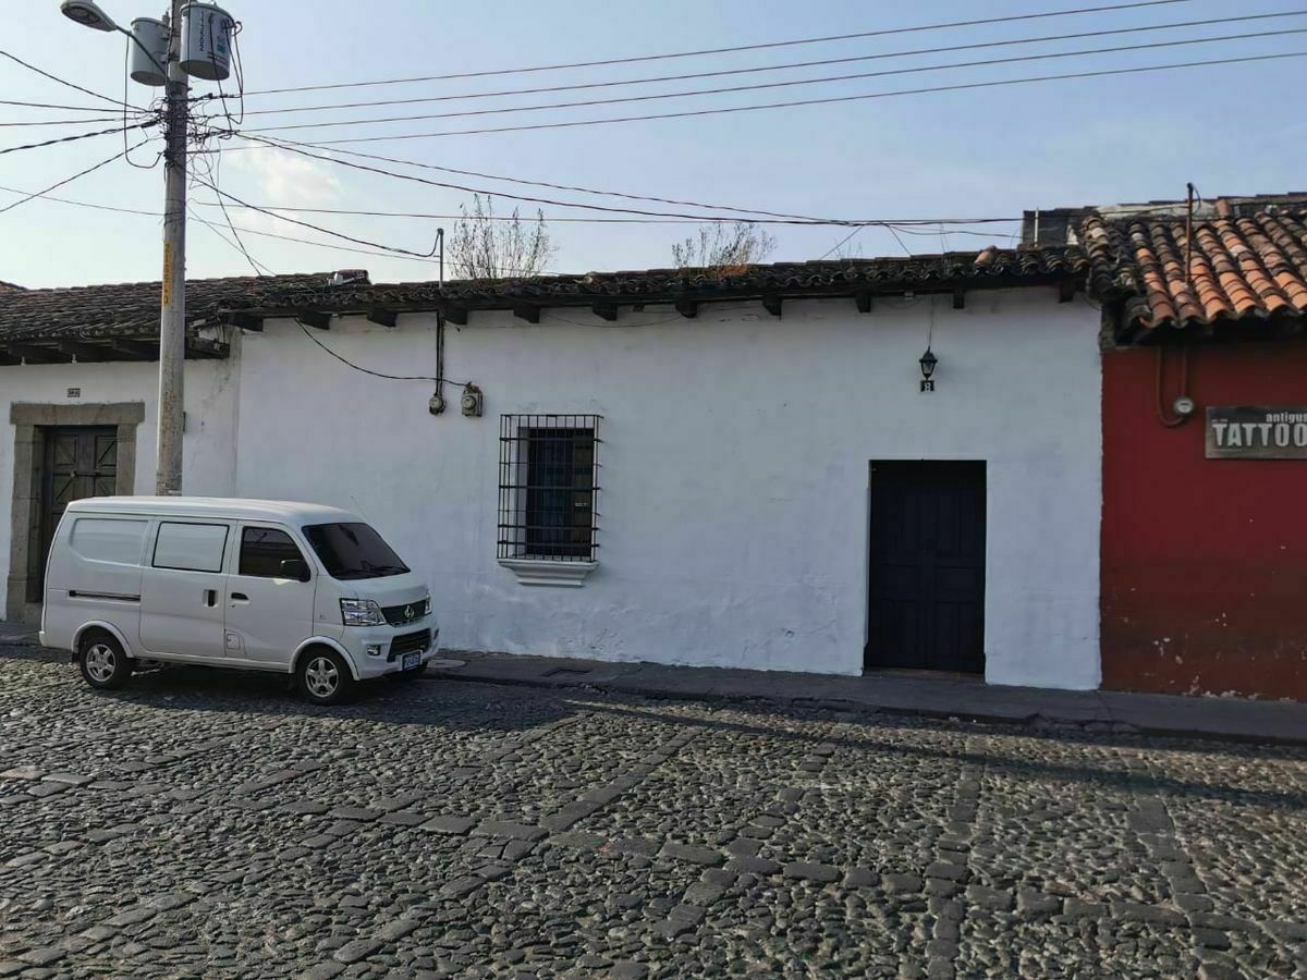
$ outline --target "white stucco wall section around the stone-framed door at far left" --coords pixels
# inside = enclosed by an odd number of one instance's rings
[[[81,396],[68,397],[69,388]],[[188,361],[183,482],[191,494],[235,493],[237,362]],[[20,365],[0,367],[0,610],[5,608],[9,574],[13,495],[13,402],[91,405],[142,401],[145,421],[136,430],[136,493],[154,493],[154,438],[158,418],[158,363]]]

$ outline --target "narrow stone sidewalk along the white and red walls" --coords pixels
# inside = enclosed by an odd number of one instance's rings
[[[1295,702],[1000,687],[975,679],[895,673],[843,677],[503,653],[450,652],[450,656],[459,660],[438,666],[429,676],[663,698],[757,699],[886,715],[1307,743],[1307,704]]]

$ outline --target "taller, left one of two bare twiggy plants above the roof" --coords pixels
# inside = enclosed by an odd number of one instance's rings
[[[494,213],[494,200],[473,195],[472,209],[461,205],[463,217],[450,237],[450,267],[456,278],[506,280],[538,276],[557,247],[545,227],[544,212],[523,220],[514,208],[510,217]]]

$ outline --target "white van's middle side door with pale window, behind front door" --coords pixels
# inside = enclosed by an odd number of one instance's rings
[[[141,576],[141,645],[148,653],[222,660],[223,568],[234,521],[159,517]]]

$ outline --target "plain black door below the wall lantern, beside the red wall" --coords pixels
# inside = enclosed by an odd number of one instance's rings
[[[984,672],[984,463],[873,463],[864,665]]]

